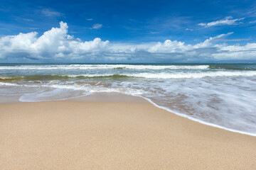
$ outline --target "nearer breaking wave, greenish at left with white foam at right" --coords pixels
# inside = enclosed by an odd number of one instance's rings
[[[68,80],[68,79],[200,79],[204,77],[252,77],[256,71],[240,72],[197,72],[197,73],[131,73],[131,74],[63,74],[63,75],[33,75],[22,77],[0,76],[0,81],[36,81],[36,80]]]

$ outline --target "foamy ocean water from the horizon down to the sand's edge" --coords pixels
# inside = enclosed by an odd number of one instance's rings
[[[142,96],[191,120],[256,135],[256,64],[0,64],[0,96],[35,102],[97,92]]]

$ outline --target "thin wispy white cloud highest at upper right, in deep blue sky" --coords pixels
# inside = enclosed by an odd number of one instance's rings
[[[241,21],[245,18],[239,18],[239,19],[232,19],[232,16],[227,16],[222,20],[219,21],[212,21],[210,23],[198,23],[199,26],[204,26],[206,28],[211,27],[211,26],[223,26],[223,25],[235,25],[238,24],[237,21]]]

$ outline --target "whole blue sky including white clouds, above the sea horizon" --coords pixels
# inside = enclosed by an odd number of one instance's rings
[[[0,38],[0,62],[255,62],[256,1],[0,0]]]

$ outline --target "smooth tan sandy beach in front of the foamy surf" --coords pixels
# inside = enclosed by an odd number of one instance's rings
[[[1,104],[0,169],[256,169],[256,137],[103,99]]]

